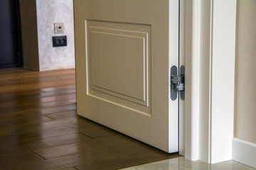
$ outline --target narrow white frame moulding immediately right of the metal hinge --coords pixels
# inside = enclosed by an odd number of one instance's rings
[[[185,158],[198,160],[201,0],[186,1]]]

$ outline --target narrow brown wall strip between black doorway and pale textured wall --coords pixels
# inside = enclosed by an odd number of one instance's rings
[[[21,0],[20,5],[24,67],[39,70],[36,0]]]

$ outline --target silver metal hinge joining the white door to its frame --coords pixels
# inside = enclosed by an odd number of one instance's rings
[[[180,75],[176,66],[171,67],[171,100],[175,101],[180,94],[181,100],[185,100],[185,67],[181,66]]]

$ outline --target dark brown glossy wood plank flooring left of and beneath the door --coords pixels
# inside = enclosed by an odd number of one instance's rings
[[[0,169],[121,169],[179,157],[76,114],[75,70],[0,70]]]

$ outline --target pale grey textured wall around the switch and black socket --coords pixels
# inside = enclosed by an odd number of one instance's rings
[[[75,68],[73,0],[36,0],[40,71]],[[53,23],[63,22],[68,46],[53,47]]]

